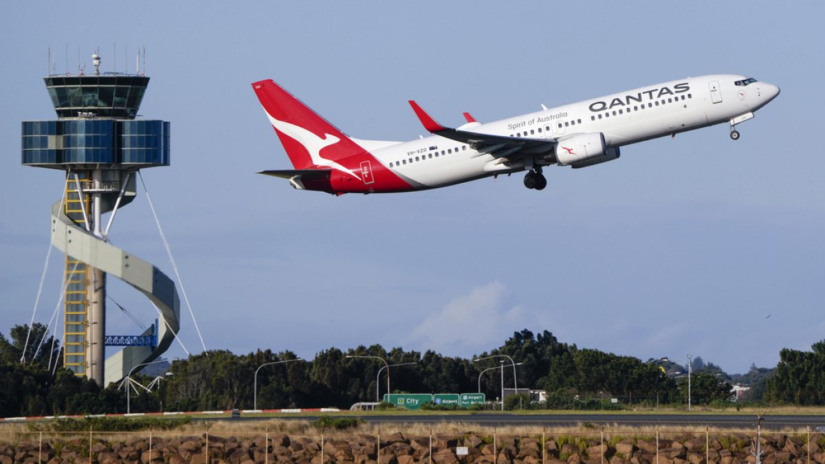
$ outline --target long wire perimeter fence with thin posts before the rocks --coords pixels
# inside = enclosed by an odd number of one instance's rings
[[[559,462],[754,462],[756,430],[710,428],[588,428],[525,433],[433,433],[411,425],[408,433],[283,433],[265,430],[210,432],[0,431],[0,462],[358,462],[455,464]],[[762,431],[761,460],[825,462],[823,433]]]

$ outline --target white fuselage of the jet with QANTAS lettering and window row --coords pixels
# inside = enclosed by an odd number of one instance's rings
[[[659,83],[605,97],[549,108],[460,130],[488,135],[563,141],[576,134],[601,132],[608,147],[619,147],[723,122],[745,121],[766,105],[779,88],[745,76],[714,74]],[[740,117],[741,116],[741,117]],[[437,147],[437,149],[431,149]],[[403,143],[365,146],[384,167],[418,188],[444,187],[498,173],[557,164],[553,156],[521,163],[500,163],[492,154],[441,136]],[[498,162],[498,163],[497,163]]]

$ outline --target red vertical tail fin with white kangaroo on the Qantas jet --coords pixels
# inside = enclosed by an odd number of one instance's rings
[[[323,167],[353,173],[337,162],[365,149],[271,79],[252,83],[252,88],[296,169]]]

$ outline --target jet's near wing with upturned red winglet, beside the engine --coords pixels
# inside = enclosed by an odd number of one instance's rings
[[[427,111],[410,100],[418,119],[421,120],[424,128],[432,134],[441,135],[446,139],[455,140],[463,144],[469,144],[473,149],[486,154],[492,154],[497,158],[507,157],[508,161],[514,161],[523,156],[543,154],[552,151],[556,146],[555,140],[530,139],[526,137],[509,137],[507,135],[481,134],[469,130],[456,130],[445,127],[432,119]]]

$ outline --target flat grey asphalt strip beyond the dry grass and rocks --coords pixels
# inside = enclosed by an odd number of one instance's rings
[[[344,414],[349,415],[349,414]],[[340,417],[336,414],[336,417]],[[525,426],[576,426],[578,424],[625,425],[629,427],[705,426],[716,428],[756,428],[754,414],[443,414],[443,415],[361,415],[371,424],[434,424],[442,422],[464,422],[485,426],[525,425]],[[219,419],[219,418],[215,418]],[[227,418],[223,418],[227,419]],[[246,416],[242,420],[263,420],[271,417]],[[279,417],[279,419],[315,420],[317,416]],[[237,419],[236,419],[237,420]],[[825,415],[767,415],[762,421],[763,428],[795,429],[825,427]]]

